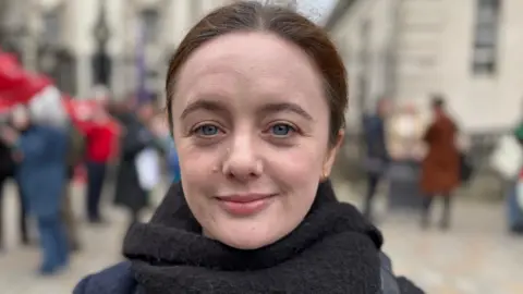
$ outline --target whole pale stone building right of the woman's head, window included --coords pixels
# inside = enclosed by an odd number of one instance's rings
[[[463,128],[520,119],[521,0],[341,0],[327,22],[350,73],[349,122],[379,97],[426,110],[441,94]]]

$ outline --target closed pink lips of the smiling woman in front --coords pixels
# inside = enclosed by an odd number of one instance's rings
[[[233,216],[247,217],[267,208],[275,198],[270,194],[248,194],[217,197],[220,206]]]

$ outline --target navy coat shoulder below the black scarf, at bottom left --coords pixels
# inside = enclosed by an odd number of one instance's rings
[[[125,261],[87,275],[74,287],[73,294],[132,294],[135,287],[131,262]]]

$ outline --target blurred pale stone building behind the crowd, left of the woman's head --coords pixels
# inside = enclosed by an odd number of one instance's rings
[[[110,90],[123,97],[137,86],[143,56],[147,88],[161,93],[170,54],[198,17],[227,0],[1,0],[0,39],[14,39],[28,70],[51,75],[78,98],[93,96],[96,28],[105,14]],[[23,32],[21,34],[20,32]],[[5,37],[5,36],[9,36]],[[144,44],[144,46],[141,46]],[[3,46],[5,47],[5,46]],[[12,46],[11,46],[12,47]],[[11,49],[10,49],[11,50]],[[143,52],[143,53],[142,53]]]

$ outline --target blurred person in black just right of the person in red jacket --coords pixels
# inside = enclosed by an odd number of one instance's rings
[[[143,122],[146,118],[142,114],[142,111],[138,111],[138,115],[122,112],[118,117],[123,126],[123,137],[120,143],[114,203],[129,210],[131,223],[138,221],[139,212],[149,205],[148,191],[139,184],[136,157],[154,146],[155,137]]]

